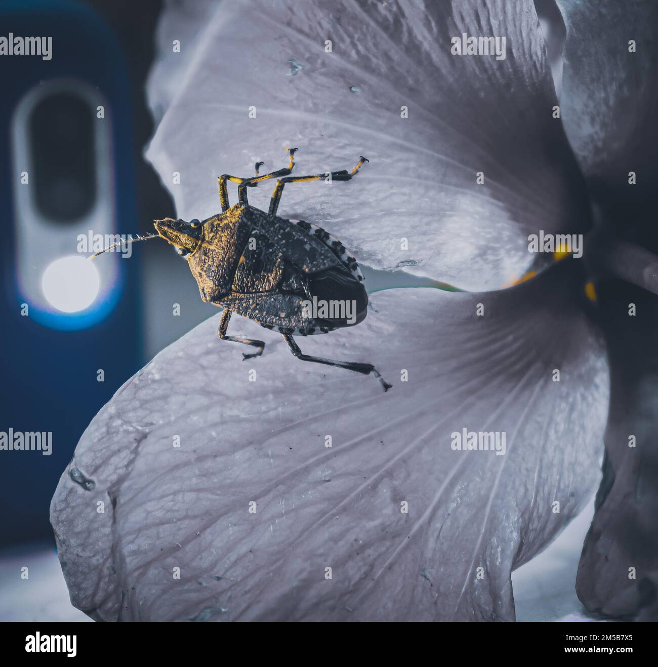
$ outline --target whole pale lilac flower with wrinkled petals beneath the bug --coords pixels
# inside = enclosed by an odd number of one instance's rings
[[[655,285],[653,255],[610,224],[631,200],[634,228],[646,220],[651,23],[635,13],[637,37],[620,37],[631,11],[603,4],[169,5],[147,157],[177,214],[217,213],[215,177],[279,169],[286,147],[297,175],[368,157],[347,183],[288,185],[279,215],[341,239],[375,292],[365,321],[303,352],[371,362],[393,387],[299,362],[235,317],[266,342],[243,362],[217,338],[220,315],[203,322],[115,394],[61,478],[51,521],[75,606],[98,620],[514,619],[511,571],[599,481],[605,322],[638,337],[638,360],[649,342],[632,328],[645,315],[609,312],[607,276]],[[473,36],[505,37],[504,57],[451,48]],[[267,209],[273,182],[249,201]],[[583,235],[583,257],[529,253],[540,233]],[[579,576],[593,610],[635,614],[651,597],[655,563],[629,560],[615,528],[648,432],[629,448],[625,427],[607,428]],[[455,446],[473,433],[505,447]],[[643,494],[633,516],[655,502]]]

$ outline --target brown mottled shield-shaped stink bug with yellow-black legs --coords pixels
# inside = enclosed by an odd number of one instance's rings
[[[354,173],[362,163],[363,160]],[[272,175],[289,173],[291,168]],[[347,180],[347,171],[335,173]],[[373,374],[386,391],[391,385],[381,378],[372,364],[305,355],[293,339],[293,334],[313,336],[358,324],[367,315],[368,296],[356,259],[338,239],[315,225],[287,220],[273,212],[285,182],[316,177],[280,179],[269,213],[249,205],[242,185],[239,190],[241,201],[228,207],[222,179],[254,187],[257,183],[253,181],[272,175],[252,179],[221,177],[220,195],[225,205],[221,213],[203,222],[193,220],[187,223],[171,218],[156,220],[155,229],[187,259],[203,300],[224,308],[219,325],[220,338],[258,348],[253,354],[243,354],[245,359],[262,354],[265,343],[228,336],[231,313],[281,333],[297,358]]]

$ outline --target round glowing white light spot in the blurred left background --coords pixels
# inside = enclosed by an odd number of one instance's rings
[[[55,259],[41,279],[45,297],[51,305],[65,313],[77,313],[91,305],[99,285],[95,265],[80,255]]]

